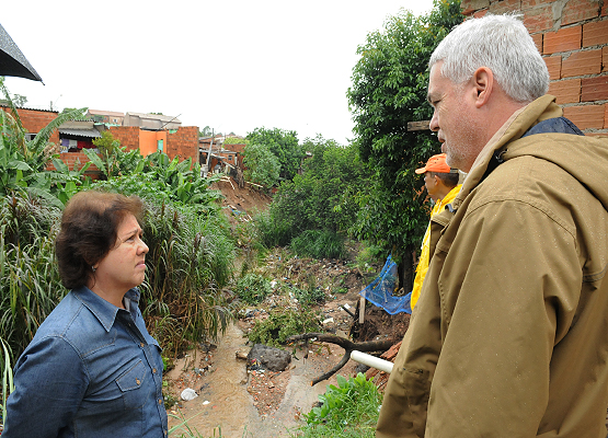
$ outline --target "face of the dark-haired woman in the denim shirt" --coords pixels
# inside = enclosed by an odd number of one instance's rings
[[[141,240],[142,231],[133,215],[127,215],[117,230],[114,247],[99,262],[94,286],[105,292],[126,293],[139,286],[146,274],[148,245]]]

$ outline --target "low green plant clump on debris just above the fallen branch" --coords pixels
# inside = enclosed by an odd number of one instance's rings
[[[319,319],[310,310],[274,310],[266,320],[255,322],[248,338],[253,344],[279,347],[289,336],[320,330]]]

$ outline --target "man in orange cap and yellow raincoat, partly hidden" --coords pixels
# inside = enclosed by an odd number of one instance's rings
[[[450,169],[446,163],[446,154],[439,153],[433,155],[426,162],[426,165],[421,169],[416,169],[417,174],[424,173],[424,185],[428,192],[428,196],[435,201],[435,206],[431,211],[431,218],[437,212],[441,211],[446,205],[450,204],[456,195],[460,192],[461,185],[458,184],[458,170]],[[428,258],[429,258],[429,243],[431,243],[431,223],[424,233],[424,239],[422,240],[421,255],[418,260],[418,265],[416,266],[416,277],[414,278],[414,286],[410,292],[410,306],[413,310],[420,298],[420,291],[422,288],[422,283],[428,270]],[[411,312],[410,312],[411,313]]]

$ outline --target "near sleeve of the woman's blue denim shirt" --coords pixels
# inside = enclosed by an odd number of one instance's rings
[[[2,438],[51,438],[71,427],[88,385],[78,353],[60,337],[33,342],[14,369]]]

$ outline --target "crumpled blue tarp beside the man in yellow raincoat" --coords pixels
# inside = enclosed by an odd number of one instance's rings
[[[399,312],[412,313],[410,304],[411,292],[403,297],[394,297],[392,295],[397,285],[397,264],[389,255],[378,277],[367,285],[359,295],[367,301],[385,309],[389,314]]]

